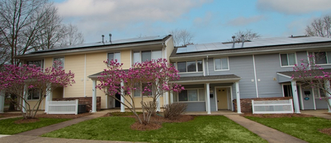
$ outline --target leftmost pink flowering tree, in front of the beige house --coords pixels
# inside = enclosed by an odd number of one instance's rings
[[[74,74],[66,73],[61,63],[55,61],[52,67],[43,69],[35,65],[4,65],[0,72],[0,91],[17,96],[12,100],[17,104],[24,119],[34,118],[41,102],[57,87],[67,87],[74,83]],[[36,104],[28,102],[32,92],[39,92]]]

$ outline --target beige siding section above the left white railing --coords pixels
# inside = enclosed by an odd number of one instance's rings
[[[84,61],[84,54],[64,57],[64,69],[66,72],[71,70],[76,81],[72,86],[64,88],[64,98],[84,97]]]

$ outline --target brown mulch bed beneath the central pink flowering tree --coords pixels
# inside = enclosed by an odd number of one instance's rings
[[[111,113],[107,113],[103,117],[112,116]],[[137,117],[135,115],[128,115],[126,117],[135,118],[137,120]],[[143,114],[140,114],[139,117],[143,119]],[[148,131],[148,130],[156,130],[160,129],[162,127],[162,124],[164,122],[188,122],[190,120],[193,120],[195,118],[194,115],[179,115],[178,118],[174,119],[168,119],[163,118],[159,115],[154,115],[150,117],[150,124],[140,124],[139,121],[134,122],[134,124],[131,125],[131,129],[139,130],[139,131]]]

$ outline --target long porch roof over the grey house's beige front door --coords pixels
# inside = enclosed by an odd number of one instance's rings
[[[179,80],[170,81],[171,83],[180,83],[180,84],[201,84],[201,83],[235,83],[241,80],[239,76],[234,74],[228,75],[217,75],[217,76],[188,76],[181,77]]]

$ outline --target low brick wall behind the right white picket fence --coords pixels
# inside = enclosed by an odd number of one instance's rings
[[[276,98],[243,98],[240,99],[241,113],[252,113],[252,100],[289,100],[292,97],[276,97]],[[234,111],[237,112],[237,99],[233,100]]]

